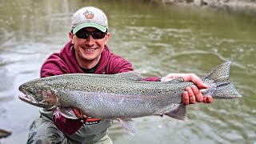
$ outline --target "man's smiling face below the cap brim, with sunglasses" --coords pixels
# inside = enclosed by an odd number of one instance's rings
[[[87,34],[88,36],[88,32],[91,33],[97,31],[99,30],[94,27],[86,27],[79,30],[76,34],[70,33],[70,40],[74,44],[78,63],[99,61],[110,34],[106,34],[105,37],[100,39],[94,39],[91,34],[89,35],[89,38],[81,38],[81,35],[85,36]]]

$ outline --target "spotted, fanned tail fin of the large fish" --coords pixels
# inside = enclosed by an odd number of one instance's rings
[[[202,78],[206,84],[210,83],[211,96],[214,98],[239,98],[242,97],[238,93],[238,90],[234,88],[234,85],[230,82],[230,64],[231,62],[225,62],[217,66],[214,70]],[[208,91],[208,92],[209,92]]]

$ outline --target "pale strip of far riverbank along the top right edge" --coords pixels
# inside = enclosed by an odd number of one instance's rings
[[[219,10],[256,12],[256,0],[149,0],[162,5],[199,6]]]

